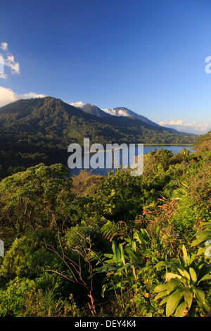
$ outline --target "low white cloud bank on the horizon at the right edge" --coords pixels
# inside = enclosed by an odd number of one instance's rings
[[[181,132],[195,133],[196,135],[202,135],[211,130],[211,124],[197,124],[196,122],[184,123],[183,120],[170,120],[169,122],[161,121],[158,123],[164,127],[171,127]]]

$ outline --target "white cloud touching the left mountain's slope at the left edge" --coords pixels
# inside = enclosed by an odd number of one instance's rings
[[[0,86],[0,107],[20,99],[43,98],[44,96],[44,94],[37,94],[34,92],[15,94],[11,89],[6,89],[6,87]]]

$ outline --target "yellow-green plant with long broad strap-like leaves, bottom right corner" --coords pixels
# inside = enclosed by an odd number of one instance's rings
[[[168,263],[161,261],[156,265],[159,267],[173,268],[175,273],[166,274],[166,284],[155,287],[154,292],[158,293],[155,300],[165,296],[160,302],[166,305],[166,316],[183,316],[186,308],[191,311],[193,299],[196,304],[205,312],[209,311],[209,305],[205,299],[205,290],[200,287],[200,282],[210,280],[211,265],[205,261],[196,263],[196,254],[189,255],[186,247],[182,247],[183,258],[179,257],[179,263]]]

